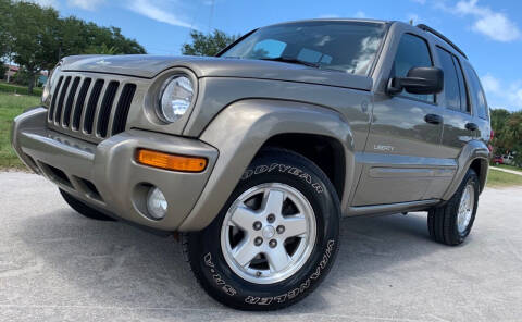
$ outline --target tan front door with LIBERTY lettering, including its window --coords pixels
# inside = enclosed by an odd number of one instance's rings
[[[428,42],[413,28],[395,41],[398,44],[389,77],[406,76],[412,67],[434,65]],[[434,95],[375,94],[371,129],[359,160],[363,173],[353,206],[423,199],[442,162],[443,113]]]

